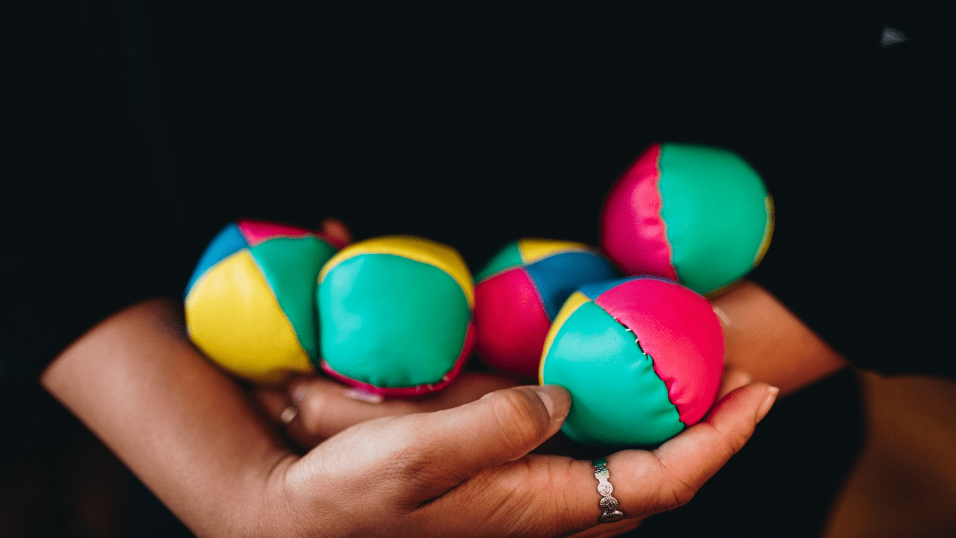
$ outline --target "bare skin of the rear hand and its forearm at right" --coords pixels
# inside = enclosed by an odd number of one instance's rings
[[[786,395],[847,366],[833,348],[754,282],[744,281],[712,303],[719,312],[726,348],[727,370],[719,397],[753,381],[778,387]],[[449,409],[516,385],[514,380],[497,375],[465,373],[447,390],[430,398],[368,403],[328,379],[299,377],[284,390],[260,390],[256,397],[276,424],[285,425],[298,445],[311,448],[363,420]],[[569,444],[568,439],[561,439],[543,448],[548,453],[575,452],[574,447],[569,450]],[[637,527],[641,519],[595,527],[579,536],[612,536]]]

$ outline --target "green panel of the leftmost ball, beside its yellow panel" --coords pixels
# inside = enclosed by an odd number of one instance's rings
[[[279,307],[293,325],[299,345],[315,361],[318,324],[315,286],[318,272],[336,249],[315,237],[278,237],[251,247],[252,258],[272,287]]]

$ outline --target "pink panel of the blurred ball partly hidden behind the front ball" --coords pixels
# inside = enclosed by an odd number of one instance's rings
[[[551,321],[528,271],[517,267],[475,286],[474,319],[478,354],[485,362],[537,377]]]

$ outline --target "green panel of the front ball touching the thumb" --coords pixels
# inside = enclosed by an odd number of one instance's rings
[[[543,380],[571,392],[561,430],[577,442],[657,444],[684,429],[654,360],[595,303],[581,304],[558,329]]]

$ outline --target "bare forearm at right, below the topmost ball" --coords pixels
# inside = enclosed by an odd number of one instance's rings
[[[721,325],[728,366],[750,373],[753,381],[779,387],[781,394],[795,392],[847,365],[810,327],[754,282],[742,282],[713,304],[727,318]]]

